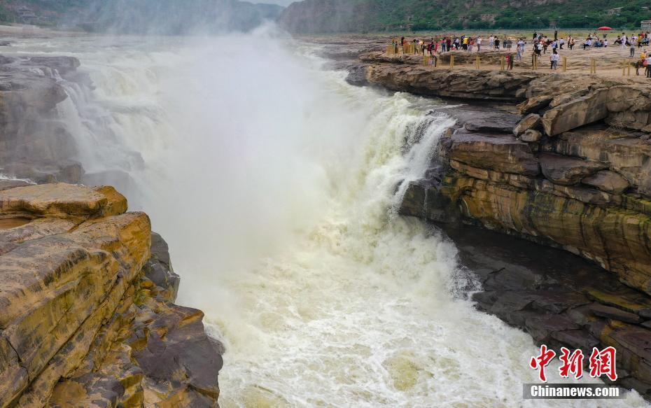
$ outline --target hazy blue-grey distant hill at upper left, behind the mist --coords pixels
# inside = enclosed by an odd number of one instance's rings
[[[25,7],[35,24],[152,34],[248,31],[283,10],[238,0],[0,0],[0,20],[24,22]]]

